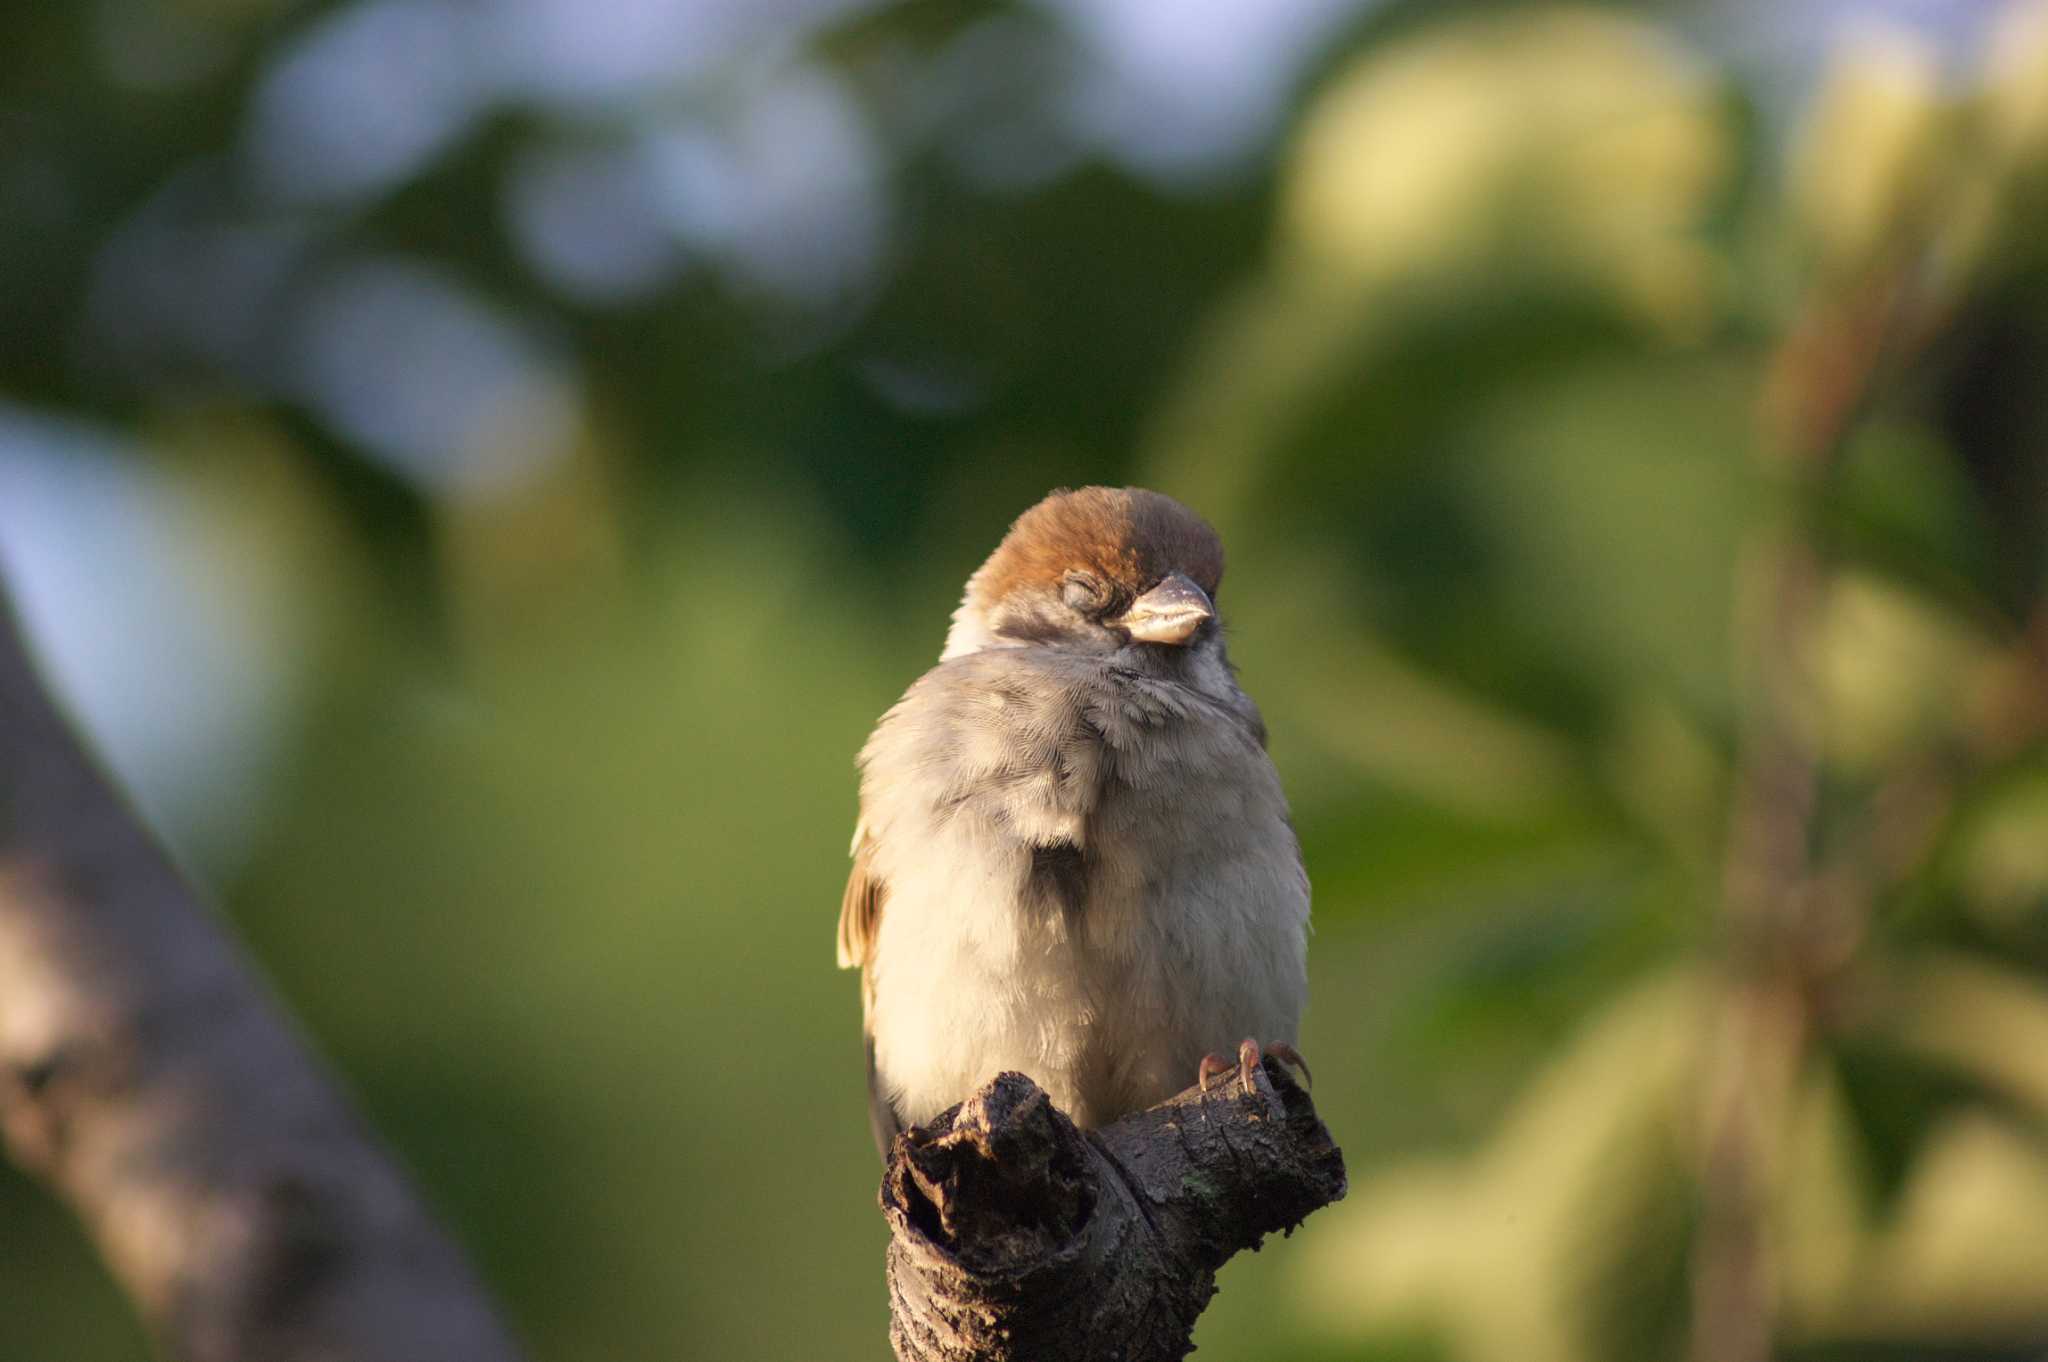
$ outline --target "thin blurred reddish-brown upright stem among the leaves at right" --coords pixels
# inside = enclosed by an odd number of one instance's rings
[[[1778,1323],[1769,1206],[1778,1153],[1829,981],[1862,944],[1876,879],[1817,864],[1821,752],[1808,643],[1829,590],[1819,502],[1882,381],[1937,330],[1921,244],[1855,285],[1819,289],[1784,338],[1765,391],[1769,451],[1790,477],[1790,524],[1772,545],[1747,621],[1755,703],[1722,866],[1726,979],[1704,1092],[1704,1206],[1694,1249],[1692,1362],[1767,1362]],[[1876,801],[1925,844],[1939,807]]]

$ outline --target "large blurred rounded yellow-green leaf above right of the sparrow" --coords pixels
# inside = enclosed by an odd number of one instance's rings
[[[1716,262],[1688,236],[1729,168],[1706,72],[1667,35],[1571,6],[1444,23],[1319,98],[1282,262],[1325,287],[1563,270],[1698,332]]]

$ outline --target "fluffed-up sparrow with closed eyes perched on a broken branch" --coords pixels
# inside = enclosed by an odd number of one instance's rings
[[[1262,1045],[1307,1075],[1309,877],[1221,582],[1180,502],[1053,492],[862,748],[838,961],[883,1159],[1006,1069],[1083,1129]]]

